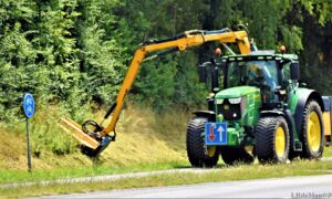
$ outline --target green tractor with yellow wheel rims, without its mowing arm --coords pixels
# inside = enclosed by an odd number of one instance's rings
[[[208,111],[195,112],[188,123],[190,164],[212,167],[220,154],[228,165],[321,158],[331,142],[332,97],[300,84],[299,73],[297,55],[269,51],[200,65],[211,94]]]

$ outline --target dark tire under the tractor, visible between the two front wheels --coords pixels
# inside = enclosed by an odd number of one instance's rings
[[[226,165],[252,164],[255,160],[245,148],[225,146],[220,148],[220,154]]]

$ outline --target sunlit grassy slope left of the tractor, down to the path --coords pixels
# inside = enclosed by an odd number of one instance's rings
[[[61,129],[54,121],[61,113],[54,108],[56,114],[52,114],[52,111],[37,113],[31,121],[31,176],[27,172],[24,122],[14,128],[4,127],[3,124],[0,126],[0,182],[189,166],[185,132],[190,114],[169,113],[160,116],[146,108],[128,106],[122,113],[116,142],[94,160],[80,153],[70,135],[59,133]],[[102,118],[102,114],[96,117]]]

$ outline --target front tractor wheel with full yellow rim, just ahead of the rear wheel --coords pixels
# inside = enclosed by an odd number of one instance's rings
[[[282,130],[282,133],[280,133],[280,130]],[[283,135],[282,138],[278,136],[281,134]],[[256,155],[260,163],[287,161],[290,148],[290,136],[287,122],[282,116],[267,116],[260,118],[256,127],[255,137]]]

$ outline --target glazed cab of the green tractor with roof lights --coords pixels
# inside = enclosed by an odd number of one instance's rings
[[[255,52],[249,55],[225,56],[224,88],[255,86],[261,92],[267,107],[276,108],[284,102],[286,92],[298,86],[298,57],[292,54]]]

